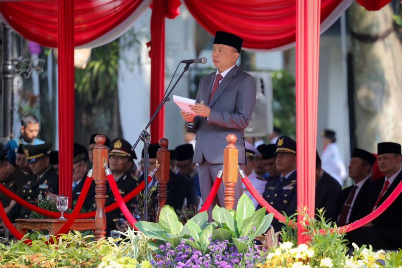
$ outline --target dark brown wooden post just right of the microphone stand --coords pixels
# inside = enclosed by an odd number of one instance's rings
[[[159,140],[159,150],[156,152],[158,170],[155,173],[155,179],[158,181],[158,214],[156,215],[156,222],[159,222],[159,214],[163,206],[166,204],[167,199],[167,182],[169,182],[170,172],[170,152],[167,149],[169,141],[166,138]]]

